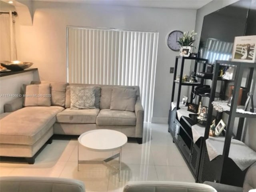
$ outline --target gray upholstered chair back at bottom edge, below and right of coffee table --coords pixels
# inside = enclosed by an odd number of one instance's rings
[[[202,183],[143,181],[130,182],[124,192],[217,192],[213,187]]]

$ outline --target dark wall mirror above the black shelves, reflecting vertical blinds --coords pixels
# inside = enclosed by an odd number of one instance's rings
[[[204,16],[200,57],[210,63],[229,60],[235,36],[256,35],[256,2],[240,0]]]

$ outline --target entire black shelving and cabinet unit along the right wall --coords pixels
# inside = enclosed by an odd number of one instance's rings
[[[177,67],[178,67],[178,60],[180,59],[181,59],[180,79],[177,81],[176,80]],[[213,65],[214,66],[213,76],[212,78],[208,78],[212,80],[210,95],[197,94],[199,96],[198,101],[201,100],[202,97],[209,98],[208,119],[212,119],[212,113],[213,113],[212,101],[214,101],[215,98],[220,98],[220,100],[226,100],[224,92],[223,93],[216,92],[217,81],[221,81],[224,90],[226,90],[226,86],[229,82],[234,83],[234,90],[232,93],[233,99],[232,99],[230,110],[222,112],[222,113],[228,114],[226,136],[224,137],[225,140],[224,140],[223,154],[222,156],[218,156],[214,160],[210,161],[207,148],[206,148],[206,140],[209,138],[208,134],[209,134],[210,125],[212,121],[209,120],[206,122],[206,130],[204,133],[204,137],[201,137],[200,139],[198,139],[196,143],[194,143],[192,132],[191,132],[191,127],[192,125],[194,125],[194,122],[190,118],[185,118],[184,116],[182,116],[180,120],[178,120],[178,117],[177,117],[177,110],[182,108],[180,107],[181,87],[182,86],[192,87],[192,92],[190,96],[190,102],[192,102],[193,101],[192,95],[193,94],[196,95],[196,93],[194,92],[194,87],[203,84],[204,80],[207,79],[207,78],[200,77],[201,80],[199,79],[198,83],[196,84],[182,82],[183,68],[185,65],[184,61],[186,59],[196,61],[194,66],[195,72],[197,70],[197,64],[200,62],[203,63],[203,70],[202,70],[203,72],[205,71],[205,68],[206,68],[207,60],[205,59],[184,58],[179,56],[176,57],[171,103],[174,102],[174,94],[178,94],[177,95],[178,99],[177,99],[176,107],[174,109],[171,108],[169,112],[169,120],[168,120],[169,130],[168,131],[171,133],[173,137],[173,142],[178,147],[178,150],[182,154],[196,182],[213,181],[213,182],[220,182],[224,184],[231,184],[234,186],[242,186],[244,176],[247,170],[241,171],[240,168],[234,163],[234,161],[228,157],[228,154],[230,151],[230,143],[231,143],[233,126],[234,126],[234,119],[239,118],[238,129],[237,129],[235,138],[238,140],[241,140],[244,119],[256,118],[256,115],[241,114],[236,112],[238,92],[240,90],[243,72],[246,68],[249,68],[248,76],[246,79],[246,86],[245,86],[245,90],[248,91],[250,90],[250,87],[252,84],[252,76],[256,68],[256,63],[231,62],[231,61],[220,61],[220,60],[216,61],[216,64]],[[235,79],[225,80],[220,78],[218,76],[220,71],[220,66],[236,67]],[[176,86],[178,86],[178,92],[175,92]],[[216,117],[217,121],[220,120],[222,113],[217,113],[217,117]]]

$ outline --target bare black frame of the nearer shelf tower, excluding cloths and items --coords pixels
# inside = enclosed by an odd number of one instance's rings
[[[245,118],[256,118],[254,114],[241,114],[236,112],[236,104],[238,101],[239,90],[242,82],[243,72],[246,68],[249,69],[248,76],[246,78],[246,90],[250,90],[252,84],[252,76],[255,72],[256,63],[244,63],[244,62],[231,62],[217,60],[214,65],[214,75],[212,79],[212,89],[210,93],[210,102],[208,105],[208,119],[212,116],[213,106],[212,101],[214,101],[214,96],[216,92],[216,84],[218,80],[218,71],[220,66],[235,66],[236,76],[234,79],[234,90],[232,94],[232,102],[229,111],[225,111],[228,114],[228,122],[226,125],[226,134],[224,140],[224,147],[222,156],[218,156],[214,160],[210,161],[208,157],[208,152],[206,149],[205,140],[209,138],[210,124],[211,121],[207,121],[206,129],[204,133],[204,142],[202,146],[202,155],[200,160],[200,170],[198,173],[198,181],[212,181],[220,182],[224,184],[230,184],[234,186],[242,186],[244,181],[244,176],[247,170],[240,170],[240,168],[234,163],[232,159],[228,157],[230,152],[230,144],[232,139],[232,132],[234,128],[235,118],[239,118],[238,129],[236,133],[236,139],[241,140],[242,131],[244,127]],[[239,151],[238,151],[239,153]],[[244,157],[246,158],[246,157]]]

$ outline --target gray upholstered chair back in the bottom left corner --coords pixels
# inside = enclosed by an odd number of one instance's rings
[[[51,177],[0,177],[1,192],[85,192],[80,180]]]

